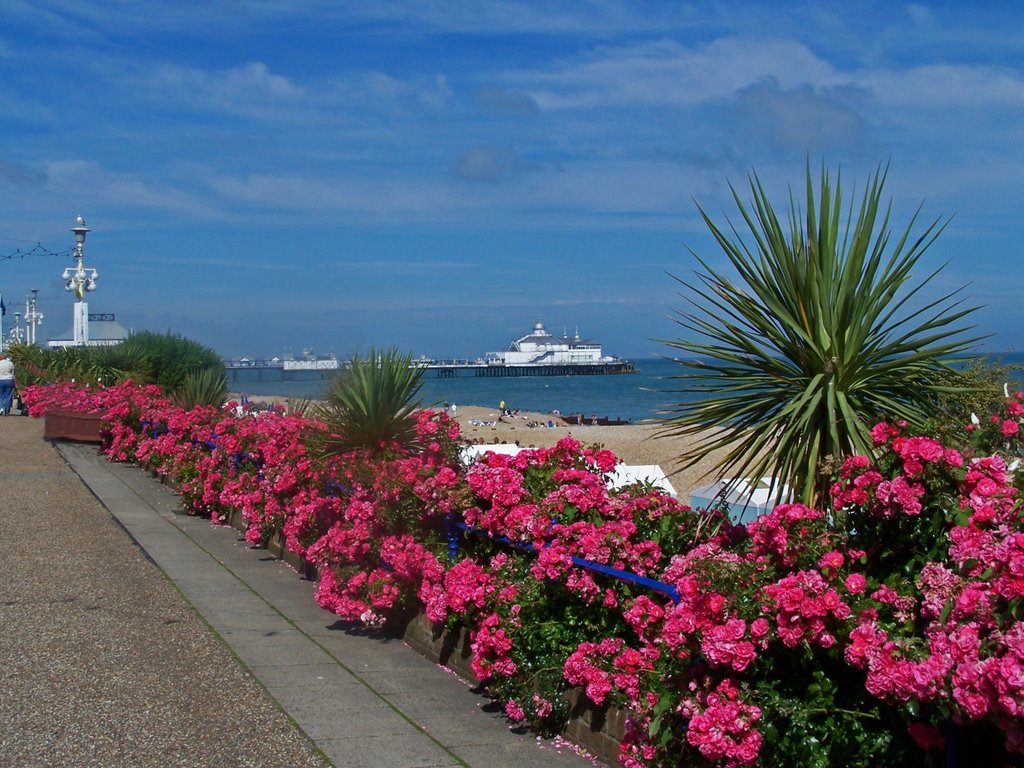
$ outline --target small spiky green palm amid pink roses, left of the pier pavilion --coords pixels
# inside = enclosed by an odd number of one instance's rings
[[[325,401],[314,409],[331,433],[325,456],[354,449],[379,452],[416,443],[416,417],[423,370],[412,354],[393,347],[374,349],[366,357],[353,354],[350,366],[331,381]]]

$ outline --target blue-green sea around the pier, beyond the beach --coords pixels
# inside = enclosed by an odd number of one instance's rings
[[[998,365],[1024,366],[1024,353],[1020,352],[988,353],[986,356]],[[632,423],[664,420],[674,403],[686,397],[672,390],[681,384],[673,377],[684,374],[687,366],[672,358],[637,359],[633,362],[638,369],[636,374],[603,376],[477,378],[472,372],[464,371],[456,378],[441,379],[435,372],[425,371],[418,397],[425,407],[444,403],[482,406],[493,408],[497,413],[504,401],[508,409],[541,414],[558,411],[562,416],[583,414],[588,419],[597,416]],[[280,373],[265,372],[266,380],[257,381],[255,371],[239,370],[238,379],[229,379],[228,386],[232,392],[244,391],[284,400],[321,398],[330,383],[314,372],[297,372],[296,376],[304,378],[284,381]],[[1021,381],[1024,373],[1019,371],[1015,378]]]

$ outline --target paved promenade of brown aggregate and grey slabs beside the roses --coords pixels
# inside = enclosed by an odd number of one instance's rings
[[[591,764],[176,508],[144,472],[0,418],[0,765]]]

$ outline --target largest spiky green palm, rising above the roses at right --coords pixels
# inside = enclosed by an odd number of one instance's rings
[[[663,434],[696,437],[684,466],[724,450],[723,474],[772,475],[776,493],[785,482],[797,499],[818,504],[827,493],[822,460],[869,455],[879,420],[925,424],[942,387],[937,373],[979,340],[957,325],[976,307],[961,306],[963,289],[937,299],[922,293],[941,267],[911,281],[947,222],[912,236],[919,208],[893,243],[891,203],[880,211],[887,174],[888,166],[876,170],[844,227],[839,175],[834,185],[824,167],[816,196],[808,165],[806,214],[791,193],[787,227],[756,173],[753,211],[730,184],[753,247],[698,206],[738,276],[693,253],[697,285],[676,278],[690,291],[676,322],[696,340],[665,342],[692,355],[685,362],[693,368],[674,377],[683,384],[673,391],[687,399]]]

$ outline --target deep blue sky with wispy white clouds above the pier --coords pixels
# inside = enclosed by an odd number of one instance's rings
[[[7,0],[0,291],[225,355],[434,356],[537,318],[670,350],[688,249],[721,257],[754,169],[787,205],[807,159],[896,225],[952,216],[922,272],[1024,351],[1024,11],[1015,3]],[[743,194],[744,199],[749,196]]]

